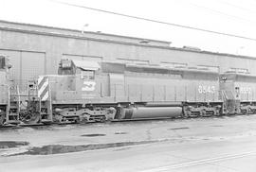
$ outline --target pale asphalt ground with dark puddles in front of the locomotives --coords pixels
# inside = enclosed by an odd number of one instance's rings
[[[255,172],[255,162],[256,115],[0,130],[0,172]]]

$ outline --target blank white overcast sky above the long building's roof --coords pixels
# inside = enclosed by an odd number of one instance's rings
[[[255,0],[60,0],[256,39]],[[0,20],[101,31],[256,57],[256,41],[129,19],[50,0],[0,0]],[[85,24],[88,26],[84,27]]]

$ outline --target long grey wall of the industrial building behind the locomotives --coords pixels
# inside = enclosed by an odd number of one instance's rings
[[[0,21],[1,23],[1,21]],[[197,52],[172,48],[165,43],[141,44],[137,39],[108,35],[108,38],[71,35],[70,30],[23,26],[0,26],[0,54],[8,55],[15,83],[27,83],[38,75],[57,74],[62,58],[79,60],[120,60],[150,64],[209,67],[221,73],[233,69],[247,70],[256,76],[256,59],[227,54]],[[31,30],[37,28],[37,30]],[[45,28],[44,32],[39,28]],[[62,34],[58,34],[58,30]],[[96,34],[96,33],[94,33]],[[136,40],[136,41],[135,41]],[[154,41],[152,41],[154,42]]]

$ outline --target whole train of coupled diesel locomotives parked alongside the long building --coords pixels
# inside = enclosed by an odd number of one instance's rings
[[[39,76],[37,81],[28,84],[27,98],[24,99],[19,96],[18,88],[9,86],[8,69],[5,62],[2,63],[0,125],[256,112],[256,77],[249,74],[219,74],[208,69],[158,64],[63,59],[58,75]]]

